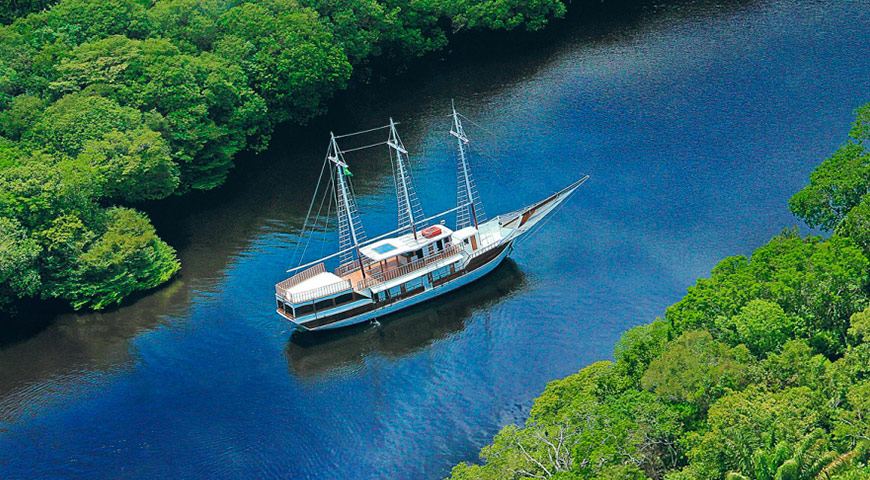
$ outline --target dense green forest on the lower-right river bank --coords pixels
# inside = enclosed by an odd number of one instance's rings
[[[551,382],[454,480],[870,478],[870,104],[789,209],[614,361]]]

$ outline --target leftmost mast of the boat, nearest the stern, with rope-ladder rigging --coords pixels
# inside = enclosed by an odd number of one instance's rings
[[[333,179],[335,181],[335,196],[338,213],[338,232],[339,232],[339,250],[344,251],[341,255],[340,264],[345,266],[353,262],[353,252],[356,252],[356,261],[359,263],[360,271],[365,278],[365,268],[363,268],[363,256],[359,251],[359,244],[365,240],[365,232],[356,212],[356,201],[353,197],[353,192],[350,190],[348,180],[350,169],[347,163],[344,162],[341,155],[341,150],[338,148],[338,142],[335,141],[335,135],[330,132],[329,152],[327,158],[333,163],[335,171]],[[350,249],[350,246],[353,249]]]

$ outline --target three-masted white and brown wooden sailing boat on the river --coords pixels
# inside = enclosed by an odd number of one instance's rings
[[[456,137],[459,150],[457,206],[426,218],[396,124],[390,119],[389,125],[381,127],[389,129],[384,143],[394,166],[399,228],[371,240],[365,238],[345,152],[337,142],[346,135],[331,135],[322,172],[329,172],[326,195],[335,202],[339,251],[288,270],[297,273],[275,285],[278,314],[300,330],[333,329],[371,321],[468,285],[495,269],[519,237],[529,234],[589,178],[584,176],[540,202],[486,221],[460,117],[454,108],[450,134]],[[445,220],[429,224],[454,212],[455,229],[448,228]],[[338,268],[328,271],[325,262],[335,257]]]

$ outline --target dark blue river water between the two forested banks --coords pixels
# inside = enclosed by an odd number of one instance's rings
[[[0,351],[0,478],[418,479],[473,460],[548,380],[796,224],[788,197],[870,100],[866,2],[665,3],[346,95],[220,191],[156,207],[177,280]],[[490,214],[592,179],[473,288],[291,339],[273,284],[328,130],[402,121],[434,213],[455,201],[451,97],[500,157],[476,157]],[[394,221],[384,163],[354,164],[370,235]]]

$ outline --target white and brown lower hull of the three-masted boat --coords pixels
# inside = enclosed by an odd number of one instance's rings
[[[378,306],[378,304],[370,304],[367,306],[359,307],[360,312],[358,314],[349,316],[349,317],[341,319],[341,320],[336,320],[336,321],[333,321],[333,322],[330,322],[327,324],[317,325],[317,326],[307,326],[305,324],[296,323],[296,326],[300,330],[310,331],[310,332],[332,330],[332,329],[336,329],[336,328],[348,327],[351,325],[369,322],[369,321],[384,317],[386,315],[396,313],[400,310],[404,310],[406,308],[412,307],[414,305],[418,305],[418,304],[423,303],[427,300],[431,300],[431,299],[438,297],[440,295],[443,295],[447,292],[450,292],[450,291],[453,291],[457,288],[468,285],[468,284],[474,282],[475,280],[478,280],[478,279],[484,277],[487,273],[495,270],[495,268],[498,267],[501,264],[501,262],[504,261],[504,259],[507,258],[507,256],[510,254],[511,249],[513,248],[512,243],[513,243],[512,241],[505,242],[503,245],[499,245],[498,247],[493,248],[493,250],[491,252],[486,252],[485,254],[481,255],[481,257],[484,257],[484,256],[487,256],[488,254],[491,254],[491,255],[489,255],[490,258],[485,258],[484,261],[479,263],[479,265],[475,266],[475,265],[470,263],[469,268],[471,268],[471,270],[468,270],[463,275],[460,275],[459,277],[454,278],[454,279],[447,281],[445,283],[442,283],[440,285],[429,286],[424,291],[422,291],[416,295],[406,297],[406,298],[403,298],[401,300],[398,300],[398,301],[395,301],[395,302],[392,302],[392,303],[389,303],[386,305],[382,305],[382,306]],[[472,261],[474,261],[474,259],[472,259]],[[372,307],[374,307],[374,308],[372,308]],[[353,313],[353,311],[350,311],[349,313]],[[306,322],[306,323],[313,323],[313,322]]]

